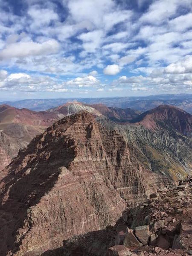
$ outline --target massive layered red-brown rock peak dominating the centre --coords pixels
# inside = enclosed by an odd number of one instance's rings
[[[1,175],[2,255],[40,255],[63,239],[105,228],[125,202],[142,201],[158,187],[134,147],[87,112],[55,122]]]

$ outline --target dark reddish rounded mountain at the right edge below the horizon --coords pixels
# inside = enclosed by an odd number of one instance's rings
[[[166,126],[192,137],[192,115],[174,106],[160,105],[141,114],[133,122],[139,122],[153,131]]]

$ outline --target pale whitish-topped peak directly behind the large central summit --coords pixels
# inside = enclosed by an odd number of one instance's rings
[[[97,111],[95,108],[92,108],[91,106],[84,105],[81,102],[67,102],[64,105],[59,106],[58,108],[53,108],[49,110],[50,112],[58,112],[63,114],[64,116],[69,116],[72,114],[75,114],[79,111],[87,111],[89,113],[92,113],[96,116],[101,116],[101,113]]]

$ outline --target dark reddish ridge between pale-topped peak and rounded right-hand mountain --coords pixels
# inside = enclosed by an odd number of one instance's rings
[[[139,116],[140,112],[131,108],[112,108],[103,104],[93,104],[91,107],[98,110],[104,116],[108,116],[114,122],[127,122]]]

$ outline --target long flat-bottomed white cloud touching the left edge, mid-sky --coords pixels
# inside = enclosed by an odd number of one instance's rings
[[[0,59],[51,54],[58,52],[58,50],[59,44],[54,39],[50,39],[42,44],[33,41],[18,42],[8,44],[6,48],[0,51]]]

